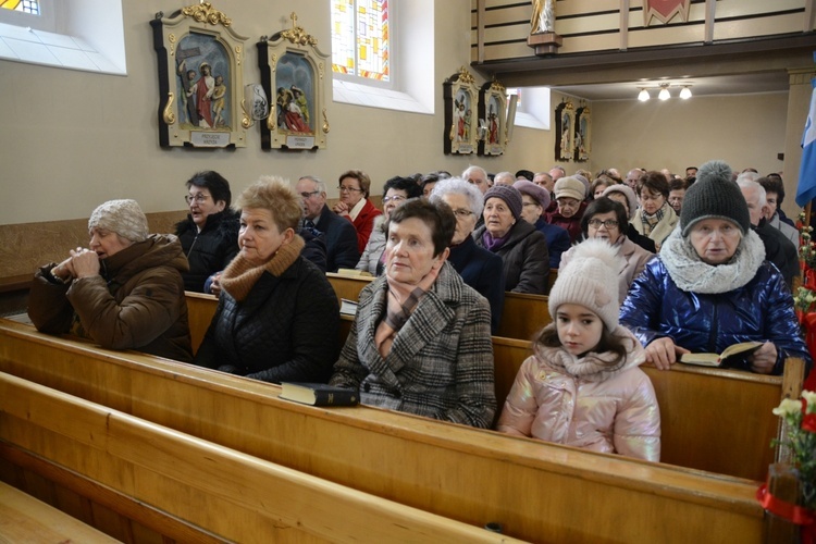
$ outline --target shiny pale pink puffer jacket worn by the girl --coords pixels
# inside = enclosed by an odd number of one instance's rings
[[[551,325],[554,326],[554,325]],[[660,411],[641,344],[622,326],[622,364],[611,354],[581,359],[565,349],[536,345],[507,396],[497,430],[602,453],[660,459]]]

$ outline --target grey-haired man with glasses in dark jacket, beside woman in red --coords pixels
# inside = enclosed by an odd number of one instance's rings
[[[353,269],[360,259],[357,251],[357,231],[354,225],[326,206],[325,184],[306,175],[297,181],[295,190],[304,203],[305,225],[325,234],[326,271]]]

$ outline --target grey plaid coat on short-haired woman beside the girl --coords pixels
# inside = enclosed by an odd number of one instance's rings
[[[490,428],[496,398],[487,300],[446,262],[383,359],[374,333],[387,290],[380,276],[360,293],[330,383],[359,390],[363,404]]]

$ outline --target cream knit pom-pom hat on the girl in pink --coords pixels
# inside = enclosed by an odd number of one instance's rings
[[[549,314],[558,307],[576,304],[597,313],[608,331],[618,326],[618,274],[623,260],[607,242],[590,238],[572,248],[570,260],[558,271],[549,292]]]

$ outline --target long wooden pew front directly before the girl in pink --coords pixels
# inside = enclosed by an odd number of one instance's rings
[[[371,407],[296,405],[279,399],[272,384],[9,321],[0,322],[0,370],[446,518],[500,522],[514,537],[763,540],[754,481]]]

